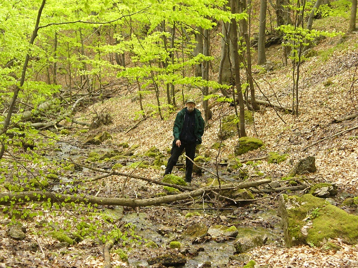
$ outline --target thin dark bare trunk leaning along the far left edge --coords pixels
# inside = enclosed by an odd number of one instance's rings
[[[40,23],[42,10],[43,10],[43,8],[45,6],[45,3],[46,3],[46,0],[42,0],[41,6],[40,6],[39,11],[37,13],[35,29],[32,32],[32,36],[31,36],[31,39],[30,39],[30,42],[29,42],[30,47],[33,45],[33,43],[34,43],[34,41],[35,41],[35,39],[37,37],[37,32],[38,32],[38,29],[39,29],[38,26],[39,26],[39,23]],[[3,156],[4,152],[5,152],[6,133],[7,133],[7,130],[9,128],[9,126],[10,126],[11,114],[13,112],[18,93],[20,92],[20,89],[21,89],[21,87],[23,86],[23,84],[25,82],[26,69],[27,69],[29,60],[30,60],[30,49],[26,54],[25,62],[24,62],[24,65],[22,67],[20,83],[18,85],[16,84],[14,94],[12,96],[12,100],[11,100],[10,106],[8,108],[8,114],[7,114],[7,116],[6,116],[5,120],[4,120],[4,125],[3,125],[3,128],[2,128],[2,132],[1,132],[1,134],[3,134],[3,138],[1,140],[0,159],[2,158],[2,156]]]

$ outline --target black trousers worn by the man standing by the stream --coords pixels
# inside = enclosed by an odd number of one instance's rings
[[[178,147],[176,144],[173,145],[171,150],[171,157],[168,160],[167,168],[164,172],[164,175],[171,174],[173,167],[175,164],[177,164],[179,156],[181,155],[182,151],[185,149],[185,154],[194,161],[195,157],[195,149],[196,144],[195,143],[187,143],[187,144],[181,144],[180,147]],[[193,163],[186,158],[186,168],[185,168],[185,182],[191,182],[191,174],[192,174],[192,168]]]

